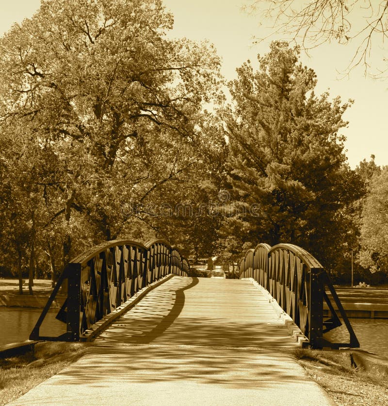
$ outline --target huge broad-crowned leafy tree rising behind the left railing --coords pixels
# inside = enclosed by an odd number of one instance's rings
[[[44,0],[0,38],[1,141],[17,128],[33,147],[51,265],[92,242],[154,236],[153,213],[137,208],[195,182],[220,61],[207,43],[168,39],[172,24],[160,0]]]

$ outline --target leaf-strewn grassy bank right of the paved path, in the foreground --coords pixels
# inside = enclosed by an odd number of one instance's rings
[[[351,351],[297,349],[294,354],[307,376],[337,405],[388,405],[388,375],[373,369],[356,370],[351,366]]]

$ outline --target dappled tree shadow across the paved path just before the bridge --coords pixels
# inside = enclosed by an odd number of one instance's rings
[[[304,382],[292,355],[276,349],[169,345],[96,346],[61,372],[59,385],[113,381],[134,384],[196,382],[229,389],[259,389]]]

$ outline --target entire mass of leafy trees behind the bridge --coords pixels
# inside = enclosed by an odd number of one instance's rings
[[[32,294],[90,246],[162,237],[231,263],[291,242],[339,281],[353,250],[363,280],[386,277],[387,170],[349,168],[351,102],[273,42],[225,105],[216,51],[172,24],[159,0],[47,0],[0,38],[0,275]]]

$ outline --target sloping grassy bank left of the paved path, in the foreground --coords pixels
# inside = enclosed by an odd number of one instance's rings
[[[34,352],[0,359],[0,405],[17,399],[83,355],[90,344],[42,342]]]

